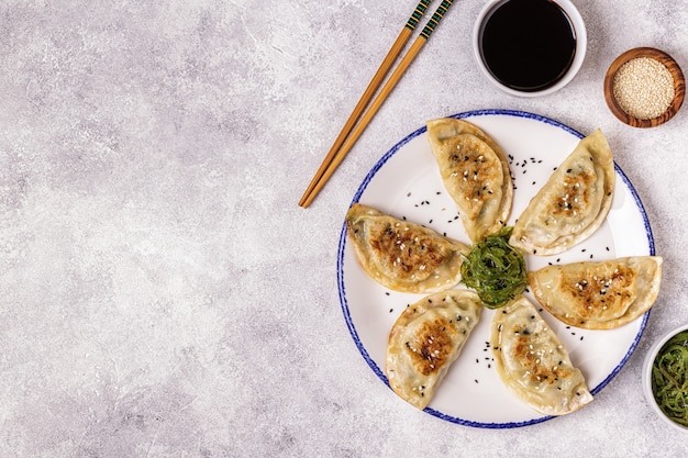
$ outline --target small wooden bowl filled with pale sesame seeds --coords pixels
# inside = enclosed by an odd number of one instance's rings
[[[620,121],[655,127],[678,112],[686,97],[684,74],[672,56],[653,47],[626,51],[607,70],[604,99]]]

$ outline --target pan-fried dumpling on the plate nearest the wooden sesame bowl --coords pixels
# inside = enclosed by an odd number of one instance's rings
[[[555,255],[588,238],[604,222],[614,190],[614,163],[600,130],[582,138],[533,197],[509,243]]]

